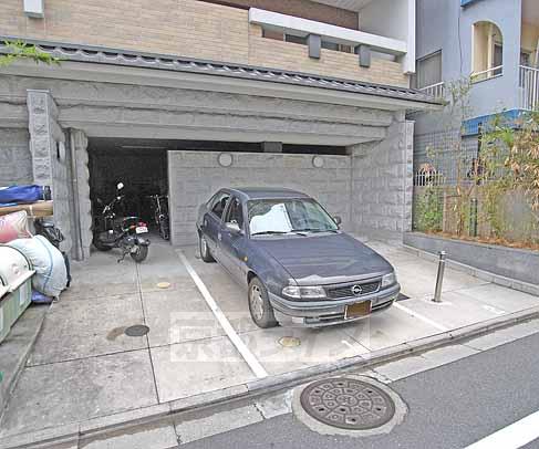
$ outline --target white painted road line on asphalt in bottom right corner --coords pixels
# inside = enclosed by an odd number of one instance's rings
[[[539,438],[539,411],[507,426],[466,449],[518,449]]]

